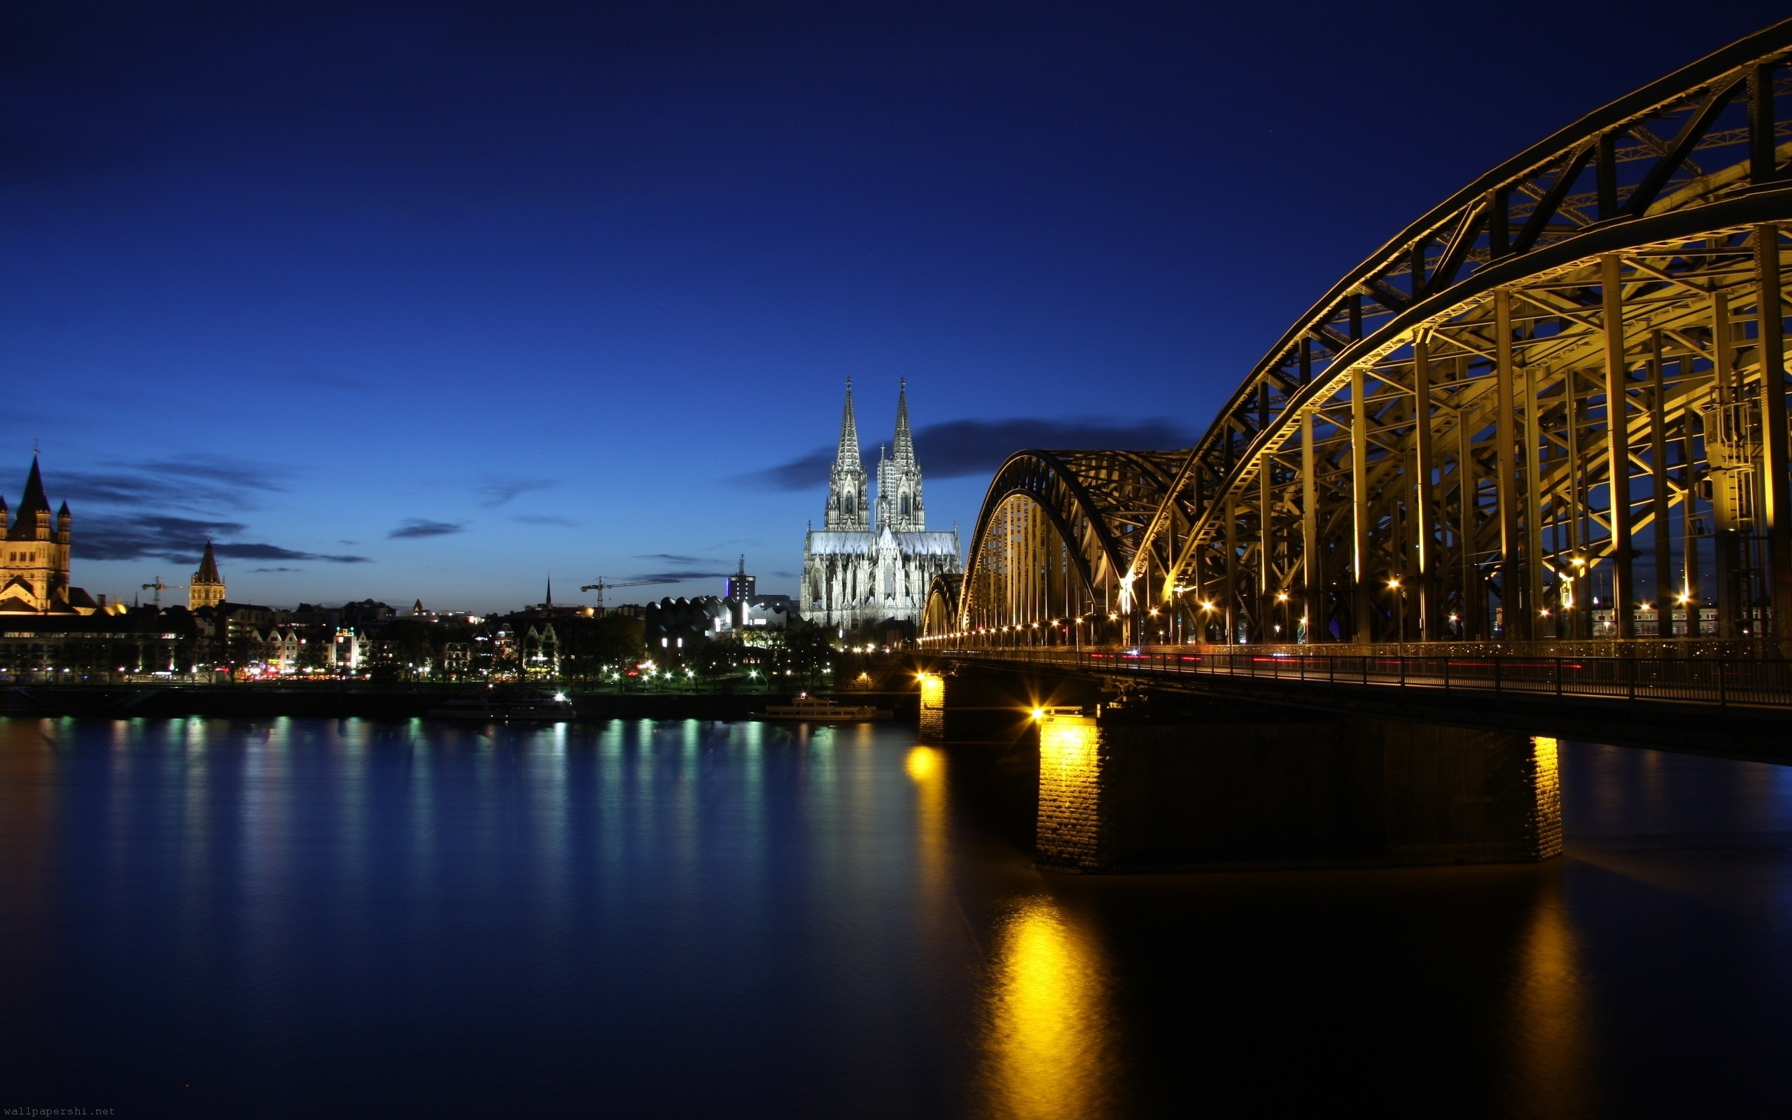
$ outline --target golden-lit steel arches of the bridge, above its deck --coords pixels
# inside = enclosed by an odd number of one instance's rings
[[[1788,102],[1792,20],[1401,229],[1193,448],[1018,452],[923,640],[1792,638]]]

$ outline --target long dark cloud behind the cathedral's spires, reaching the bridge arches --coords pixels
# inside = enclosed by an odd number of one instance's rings
[[[1199,435],[1165,416],[1145,419],[948,419],[914,434],[914,453],[930,478],[993,475],[1002,461],[1023,448],[1170,450],[1193,446]],[[869,459],[867,459],[869,464]],[[778,466],[740,475],[760,489],[815,489],[826,486],[833,448],[821,448]],[[873,468],[874,470],[874,468]]]

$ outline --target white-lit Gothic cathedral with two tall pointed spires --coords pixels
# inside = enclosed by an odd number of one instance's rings
[[[853,382],[846,382],[840,444],[828,475],[828,511],[803,541],[803,616],[837,633],[880,622],[919,622],[935,575],[962,568],[959,530],[926,532],[921,464],[909,430],[909,383],[896,396],[896,441],[878,448],[878,498],[867,500],[858,457]]]

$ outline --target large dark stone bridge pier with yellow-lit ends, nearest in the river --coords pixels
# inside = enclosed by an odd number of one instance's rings
[[[1555,742],[1210,702],[1039,720],[1036,855],[1079,873],[1536,862]]]

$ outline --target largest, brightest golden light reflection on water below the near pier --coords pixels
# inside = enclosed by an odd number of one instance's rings
[[[1111,1111],[1107,966],[1095,937],[1052,898],[1029,898],[998,930],[987,998],[993,1116],[1072,1120]]]

